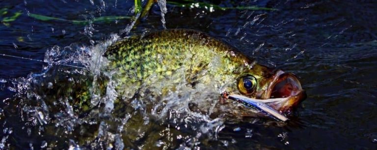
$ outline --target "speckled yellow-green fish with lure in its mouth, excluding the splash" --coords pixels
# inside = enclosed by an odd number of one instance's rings
[[[238,117],[259,113],[287,121],[282,114],[306,98],[293,73],[258,64],[234,46],[195,30],[167,29],[132,36],[109,46],[105,56],[108,69],[117,72],[113,78],[118,83],[116,91],[123,99],[132,98],[140,86],[151,83],[151,76],[168,78],[173,74],[185,78],[190,88],[206,85],[221,89],[222,98],[258,110],[249,112],[246,108],[245,111],[235,104],[222,106],[225,113]],[[162,88],[166,92],[175,87]]]

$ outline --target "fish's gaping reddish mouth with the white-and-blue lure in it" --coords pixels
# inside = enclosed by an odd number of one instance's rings
[[[294,74],[279,70],[268,88],[257,93],[256,98],[227,93],[222,93],[221,96],[239,102],[246,107],[259,110],[277,120],[287,121],[288,118],[283,114],[289,112],[304,100],[306,93]]]

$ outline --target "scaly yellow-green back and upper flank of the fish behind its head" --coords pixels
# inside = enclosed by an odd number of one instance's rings
[[[233,47],[204,33],[190,30],[165,30],[144,37],[131,36],[110,46],[105,56],[110,61],[114,78],[121,79],[118,89],[136,90],[151,75],[168,77],[177,69],[184,69],[188,83],[204,82],[203,73],[217,77],[219,84],[235,79],[242,72],[243,56],[232,56]],[[224,57],[225,56],[225,57]],[[221,69],[208,67],[214,59],[221,58]],[[211,65],[215,66],[215,65]],[[200,74],[202,73],[202,74]],[[224,76],[231,77],[224,77]],[[233,81],[232,81],[233,82]],[[132,92],[131,92],[132,93]]]

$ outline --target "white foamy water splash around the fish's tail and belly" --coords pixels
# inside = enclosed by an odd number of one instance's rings
[[[87,142],[95,145],[93,148],[130,147],[121,137],[137,135],[139,139],[156,136],[155,133],[150,133],[149,130],[152,128],[141,129],[144,126],[156,125],[161,126],[156,134],[165,134],[169,138],[161,140],[163,144],[149,145],[151,147],[170,147],[176,136],[181,136],[184,139],[182,144],[189,147],[199,146],[199,139],[203,136],[216,138],[217,133],[223,128],[223,122],[219,118],[211,118],[210,115],[217,103],[220,87],[217,87],[216,83],[211,83],[210,85],[214,87],[211,88],[212,90],[208,90],[207,85],[197,85],[193,89],[188,86],[183,69],[177,70],[169,78],[160,79],[151,76],[148,82],[153,84],[142,85],[131,101],[118,98],[117,79],[113,79],[113,74],[116,72],[106,70],[108,61],[103,57],[106,48],[118,39],[119,36],[114,34],[108,40],[93,46],[80,43],[65,47],[53,46],[45,54],[44,62],[49,65],[40,73],[32,73],[27,78],[12,81],[14,85],[12,88],[17,92],[16,97],[22,100],[20,106],[24,106],[22,118],[25,122],[42,130],[46,130],[45,126],[53,124],[56,129],[63,130],[64,134],[61,136],[66,138],[72,135],[80,137],[85,130],[88,130],[86,126],[95,126],[94,130],[97,130],[98,134],[87,138],[89,139]],[[54,64],[77,65],[87,69]],[[105,80],[107,84],[103,85]],[[83,87],[81,85],[86,84],[92,85],[86,91],[88,104],[75,102],[75,98],[71,95],[75,91],[80,91]],[[203,93],[204,90],[207,92]],[[168,92],[162,95],[165,91]],[[85,98],[85,94],[76,96]],[[119,103],[119,101],[124,102]],[[191,110],[190,107],[197,104],[200,104],[199,107],[207,113]],[[78,107],[80,105],[81,107]],[[119,114],[124,115],[119,116]],[[99,122],[100,120],[103,121]],[[135,120],[141,121],[140,127],[133,126]],[[170,129],[171,127],[174,129]],[[132,130],[138,128],[140,128],[138,132],[132,133]],[[187,130],[198,133],[184,136]],[[30,136],[33,134],[30,130]],[[82,145],[79,144],[83,142],[81,139],[71,140],[70,149],[81,148]],[[151,139],[151,141],[155,140]]]

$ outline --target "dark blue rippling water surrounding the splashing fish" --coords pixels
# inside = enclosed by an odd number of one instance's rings
[[[0,25],[0,52],[43,60],[51,65],[0,57],[0,148],[377,147],[375,1],[215,3],[224,7],[257,5],[276,11],[206,9],[197,8],[195,4],[188,8],[167,1],[164,15],[161,14],[164,8],[159,7],[163,1],[155,4],[148,18],[141,20],[134,29],[129,26],[133,24],[130,20],[93,21],[101,16],[132,15],[132,1],[1,1],[1,7],[8,8],[6,17],[18,11],[23,14],[16,21]],[[29,17],[30,13],[92,23],[40,21]],[[99,71],[106,64],[106,60],[101,59],[106,45],[129,35],[129,31],[139,34],[164,27],[207,32],[257,58],[259,63],[293,72],[300,77],[308,98],[291,115],[293,121],[282,124],[263,118],[223,122],[201,113],[184,114],[181,112],[189,112],[185,107],[179,109],[179,106],[187,106],[184,101],[169,101],[175,111],[162,109],[166,110],[162,120],[143,115],[146,112],[143,106],[148,104],[142,100],[130,102],[140,113],[125,111],[108,119],[108,114],[117,109],[112,105],[114,98],[111,97],[116,92],[111,85],[116,83],[93,87],[94,97],[85,105],[104,104],[93,114],[78,114],[64,93],[43,97],[46,91],[30,92],[41,86],[47,89],[77,87],[84,84],[78,82],[83,76],[88,83],[96,85],[99,80],[111,76],[111,73],[104,75]],[[64,79],[67,83],[55,84],[56,79]],[[109,93],[99,93],[99,88],[107,88]],[[186,91],[183,97],[182,93],[173,92],[165,99],[208,97],[184,86],[180,90]],[[45,101],[54,97],[55,102]],[[181,122],[180,118],[185,117]],[[138,131],[119,128],[132,126],[142,128]],[[125,135],[128,138],[124,138]],[[138,139],[136,135],[142,138]],[[130,143],[132,138],[137,139],[136,142]]]

